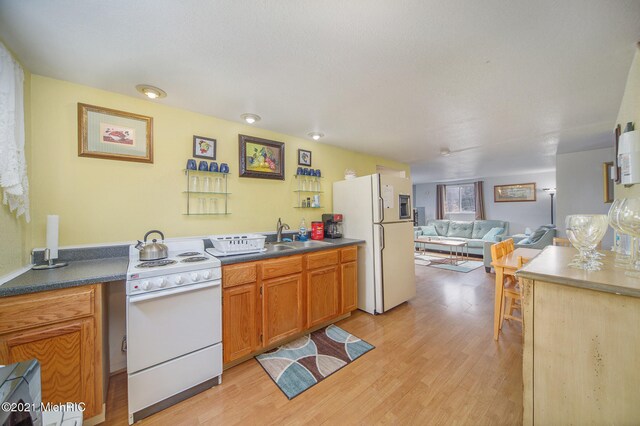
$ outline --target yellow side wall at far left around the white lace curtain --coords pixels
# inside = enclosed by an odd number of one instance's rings
[[[27,158],[31,152],[30,90],[31,75],[25,69],[24,117],[25,156]],[[27,164],[27,175],[30,178],[31,169],[29,166]],[[0,191],[0,277],[29,263],[29,252],[31,251],[31,223],[27,223],[24,216],[16,218],[15,213],[9,211],[8,205],[1,204],[1,200],[2,192]]]

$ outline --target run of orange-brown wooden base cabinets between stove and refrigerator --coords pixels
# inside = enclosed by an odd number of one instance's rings
[[[224,265],[224,363],[246,359],[355,310],[357,277],[356,246]]]

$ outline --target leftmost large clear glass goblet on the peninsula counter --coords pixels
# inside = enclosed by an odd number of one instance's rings
[[[574,268],[599,271],[596,247],[607,232],[607,216],[603,214],[576,214],[566,218],[567,237],[579,254],[569,264]]]

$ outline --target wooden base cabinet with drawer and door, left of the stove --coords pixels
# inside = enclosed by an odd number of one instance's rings
[[[0,298],[0,364],[36,358],[42,402],[84,402],[102,411],[102,294],[99,284]]]

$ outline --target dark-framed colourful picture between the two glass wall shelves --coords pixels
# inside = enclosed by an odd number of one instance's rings
[[[238,135],[240,177],[284,180],[284,143]]]

